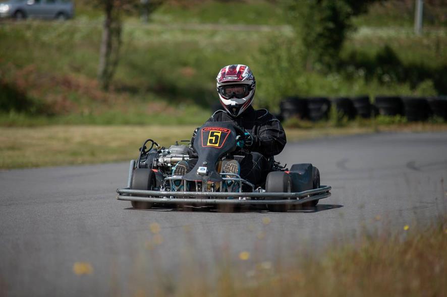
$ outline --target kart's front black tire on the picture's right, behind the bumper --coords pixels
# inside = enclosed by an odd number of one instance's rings
[[[267,193],[290,193],[292,183],[290,176],[282,171],[273,171],[267,175],[265,180],[265,192]],[[282,200],[283,198],[270,197],[271,200]],[[290,209],[290,204],[269,204],[269,211],[285,212]]]

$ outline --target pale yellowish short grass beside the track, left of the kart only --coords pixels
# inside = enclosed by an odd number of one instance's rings
[[[135,159],[142,142],[191,139],[196,126],[69,126],[0,128],[0,168],[93,164]]]

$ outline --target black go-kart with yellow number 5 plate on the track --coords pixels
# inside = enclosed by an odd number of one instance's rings
[[[256,187],[236,173],[222,171],[232,162],[244,131],[227,122],[205,123],[191,143],[160,147],[147,139],[138,159],[130,161],[126,188],[117,189],[118,200],[131,201],[138,209],[154,204],[246,205],[262,204],[270,211],[288,211],[292,205],[315,206],[330,196],[330,186],[320,185],[320,174],[312,164],[294,164],[290,170],[272,164],[265,184]],[[184,140],[183,140],[184,141]],[[148,148],[146,145],[150,143]],[[197,159],[186,174],[173,175],[181,161]],[[233,161],[234,162],[234,161]]]

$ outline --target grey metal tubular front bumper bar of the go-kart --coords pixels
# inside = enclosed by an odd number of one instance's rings
[[[139,201],[163,204],[194,203],[213,204],[302,204],[330,196],[330,186],[294,193],[258,193],[258,192],[171,192],[144,191],[129,188],[117,189],[118,200]],[[130,196],[138,195],[138,196]],[[144,197],[151,196],[151,197]],[[152,197],[153,196],[153,197]],[[179,197],[179,198],[177,198]],[[193,197],[193,198],[184,198]],[[253,200],[256,198],[256,200]],[[272,199],[276,198],[276,199]]]

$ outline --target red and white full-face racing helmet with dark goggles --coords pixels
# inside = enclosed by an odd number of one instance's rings
[[[225,66],[217,74],[216,82],[220,104],[233,117],[241,115],[252,104],[256,80],[247,65]]]

